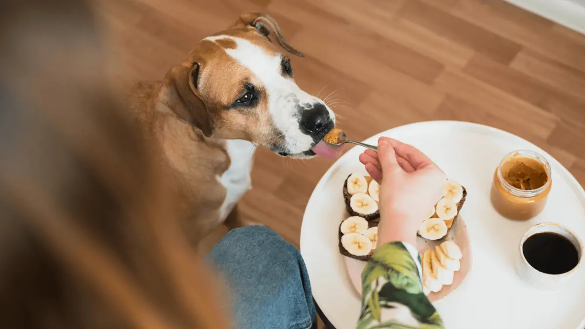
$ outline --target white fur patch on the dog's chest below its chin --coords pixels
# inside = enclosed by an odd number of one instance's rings
[[[252,171],[252,159],[256,145],[247,140],[228,139],[226,140],[226,150],[231,163],[228,170],[219,177],[219,181],[227,190],[225,200],[219,208],[221,222],[229,215],[242,195],[252,188],[250,172]]]

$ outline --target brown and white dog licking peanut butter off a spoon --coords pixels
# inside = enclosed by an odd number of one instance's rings
[[[163,81],[130,92],[146,137],[180,181],[194,242],[225,221],[250,189],[257,146],[288,157],[334,156],[321,140],[335,115],[297,86],[281,49],[303,56],[274,19],[247,13],[201,40]]]

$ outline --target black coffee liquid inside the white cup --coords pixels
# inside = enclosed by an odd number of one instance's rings
[[[562,235],[543,232],[532,235],[522,245],[526,261],[543,273],[562,274],[579,263],[577,248]]]

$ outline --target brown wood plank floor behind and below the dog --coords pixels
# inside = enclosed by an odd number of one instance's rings
[[[515,133],[585,185],[585,36],[501,0],[99,0],[120,76],[160,79],[200,39],[266,12],[304,52],[297,83],[355,139],[454,119]],[[332,161],[259,150],[240,214],[298,246],[302,214]]]

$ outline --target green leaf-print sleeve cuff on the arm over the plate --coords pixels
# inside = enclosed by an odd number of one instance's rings
[[[444,328],[422,292],[421,258],[402,242],[380,246],[362,273],[362,312],[357,329]]]

